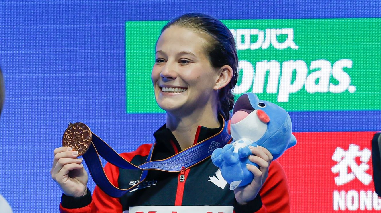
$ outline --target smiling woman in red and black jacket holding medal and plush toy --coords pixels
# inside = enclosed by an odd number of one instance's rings
[[[156,101],[166,111],[166,124],[154,133],[157,143],[151,160],[161,160],[221,130],[234,103],[231,90],[237,83],[238,58],[234,38],[224,24],[190,13],[163,27],[155,59],[151,78]],[[143,144],[121,155],[140,165],[151,146]],[[54,150],[51,176],[64,193],[61,212],[289,212],[282,167],[274,161],[269,173],[270,152],[256,147],[252,153],[249,159],[260,168],[247,168],[255,179],[234,191],[225,187],[218,168],[207,159],[180,173],[150,170],[146,182],[120,198],[109,197],[98,187],[91,197],[82,160],[68,147]],[[105,171],[119,188],[133,186],[141,175],[110,163]]]

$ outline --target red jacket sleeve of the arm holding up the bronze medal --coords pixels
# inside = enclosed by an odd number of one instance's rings
[[[131,161],[135,155],[147,155],[151,146],[152,144],[143,144],[139,146],[136,151],[122,153],[121,156],[124,159]],[[107,162],[104,171],[110,183],[115,187],[118,187],[119,168]],[[92,200],[89,205],[82,208],[64,208],[60,204],[59,211],[61,213],[122,213],[123,210],[119,198],[110,197],[99,189],[98,186],[95,186]]]

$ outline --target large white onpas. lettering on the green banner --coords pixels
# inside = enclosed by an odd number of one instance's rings
[[[264,93],[268,71],[266,93],[277,93],[278,102],[288,102],[290,94],[304,90],[307,93],[354,93],[351,76],[345,71],[352,68],[352,60],[340,59],[333,64],[325,59],[312,61],[309,67],[302,60],[259,61],[255,65],[249,61],[239,61],[242,81],[233,93]],[[255,67],[255,72],[254,72]],[[309,72],[310,70],[310,72]],[[282,72],[281,72],[282,71]],[[249,91],[252,88],[252,91]]]

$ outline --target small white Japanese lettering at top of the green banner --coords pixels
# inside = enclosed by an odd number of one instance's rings
[[[231,29],[235,42],[237,43],[237,50],[256,50],[267,49],[272,45],[277,50],[291,48],[298,50],[299,46],[294,42],[294,29]],[[279,37],[286,36],[284,42],[278,41]]]

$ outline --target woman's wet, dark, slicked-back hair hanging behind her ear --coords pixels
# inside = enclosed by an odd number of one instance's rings
[[[224,65],[232,67],[233,77],[231,81],[224,88],[218,90],[218,112],[223,115],[225,120],[229,120],[230,111],[234,105],[232,89],[237,84],[238,79],[238,56],[232,33],[218,19],[202,13],[186,13],[174,18],[163,27],[161,32],[171,26],[185,27],[209,35],[205,50],[211,65],[215,68]]]

